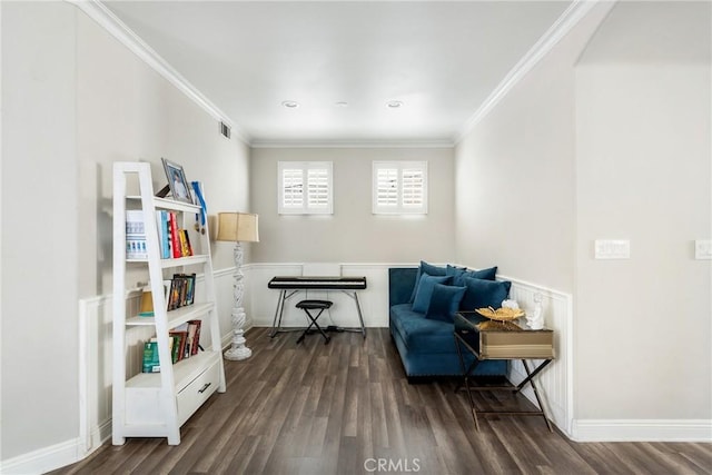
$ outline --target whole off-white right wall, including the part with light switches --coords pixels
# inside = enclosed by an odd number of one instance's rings
[[[456,149],[457,260],[573,294],[576,438],[709,439],[709,2],[599,4]]]

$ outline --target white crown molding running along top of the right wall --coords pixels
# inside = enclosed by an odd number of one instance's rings
[[[465,122],[453,142],[459,144],[475,126],[516,86],[600,0],[573,0],[572,4],[556,19],[556,22],[538,39],[526,55],[514,65],[502,82],[487,96],[479,108]],[[606,0],[607,1],[607,0]],[[613,0],[615,1],[615,0]]]

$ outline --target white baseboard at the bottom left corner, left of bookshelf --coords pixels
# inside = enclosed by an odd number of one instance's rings
[[[83,456],[83,442],[75,438],[2,461],[0,473],[3,475],[43,474],[73,464],[81,459],[79,454]]]

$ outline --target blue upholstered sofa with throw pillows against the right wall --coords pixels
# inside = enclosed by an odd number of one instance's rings
[[[485,274],[468,271],[467,277],[473,280],[463,279],[464,271],[465,269],[451,266],[436,267],[423,261],[417,268],[388,269],[390,336],[411,383],[424,377],[461,376],[462,369],[453,336],[453,314],[458,309],[473,310],[490,305],[500,307],[502,300],[508,295],[511,283],[494,281],[496,267],[486,269]],[[437,276],[432,278],[434,274]],[[429,305],[425,305],[428,307],[425,311],[423,311],[424,301],[416,300],[418,285],[424,275],[426,277],[423,280],[437,280],[435,284],[437,290],[432,294],[432,301],[427,303]],[[449,298],[445,304],[446,311],[442,311],[441,315],[431,315],[433,307],[437,306],[436,294],[459,295]],[[468,365],[472,362],[472,355],[468,352],[464,352],[463,355]],[[507,362],[495,359],[481,362],[474,372],[475,376],[506,376],[506,374]]]

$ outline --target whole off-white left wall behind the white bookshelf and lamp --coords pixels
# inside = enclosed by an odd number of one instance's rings
[[[160,157],[171,159],[215,215],[248,207],[249,148],[75,6],[0,8],[1,453],[6,467],[55,468],[80,448],[78,301],[111,291],[111,164],[150,161],[159,189]],[[233,246],[212,247],[216,271],[231,268]]]

